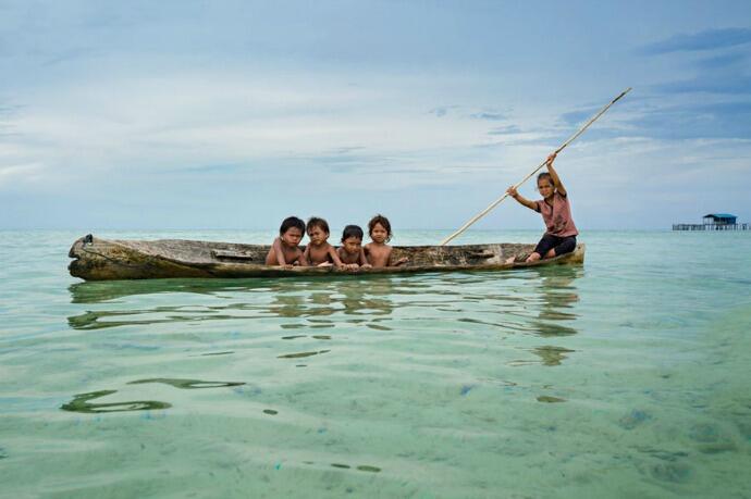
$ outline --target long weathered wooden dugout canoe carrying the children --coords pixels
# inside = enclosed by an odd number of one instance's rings
[[[466,246],[395,246],[404,265],[386,269],[340,271],[333,267],[283,269],[264,265],[269,246],[185,239],[108,240],[90,234],[76,240],[69,252],[69,270],[86,280],[158,279],[172,277],[292,277],[342,274],[416,274],[426,272],[506,271],[510,269],[582,264],[584,245],[535,263],[505,263],[509,257],[529,253],[534,245],[501,242]]]

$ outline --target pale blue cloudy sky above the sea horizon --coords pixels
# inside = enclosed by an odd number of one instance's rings
[[[628,87],[579,229],[751,222],[748,0],[0,0],[0,229],[453,229]]]

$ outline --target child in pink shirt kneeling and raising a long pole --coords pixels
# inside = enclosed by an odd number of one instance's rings
[[[576,236],[579,232],[574,225],[574,219],[571,219],[568,194],[553,167],[555,157],[555,152],[547,157],[547,172],[538,175],[538,190],[543,199],[530,201],[520,196],[514,186],[506,190],[520,204],[542,214],[542,220],[547,228],[532,254],[527,258],[527,262],[537,262],[541,258],[570,253],[576,249]],[[508,263],[513,261],[513,258],[507,260]]]

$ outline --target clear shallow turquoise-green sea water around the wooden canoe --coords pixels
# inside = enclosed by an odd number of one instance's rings
[[[751,497],[751,233],[586,233],[581,267],[110,283],[67,274],[82,235],[0,232],[2,497]]]

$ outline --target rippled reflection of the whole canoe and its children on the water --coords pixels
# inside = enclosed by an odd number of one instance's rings
[[[498,274],[79,283],[70,287],[72,302],[91,308],[69,316],[67,321],[72,328],[86,330],[206,321],[268,324],[268,320],[274,320],[278,330],[299,332],[279,336],[281,339],[305,342],[331,340],[330,334],[312,330],[342,324],[382,333],[395,332],[396,327],[398,332],[401,327],[393,315],[395,310],[403,310],[408,313],[402,321],[426,316],[431,321],[451,321],[459,327],[466,325],[469,330],[561,338],[577,334],[576,280],[582,275],[581,267],[556,266]],[[303,359],[331,351],[307,346],[303,351],[276,351],[274,357]],[[573,352],[559,345],[520,350],[531,351],[540,360],[527,357],[507,365],[556,366]]]

